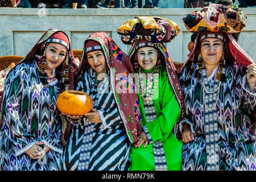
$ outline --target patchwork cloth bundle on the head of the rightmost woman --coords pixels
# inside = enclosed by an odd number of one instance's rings
[[[236,33],[245,27],[246,15],[236,6],[212,4],[200,11],[193,11],[183,18],[191,32],[212,31]]]

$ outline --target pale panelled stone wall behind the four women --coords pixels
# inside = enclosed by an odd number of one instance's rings
[[[0,9],[0,56],[25,56],[48,28],[57,28],[71,37],[72,49],[82,49],[84,40],[93,32],[105,31],[124,52],[130,46],[122,43],[116,30],[134,16],[162,16],[179,24],[181,31],[170,43],[172,60],[187,59],[191,32],[185,28],[184,15],[195,9]],[[256,9],[242,9],[247,15],[246,27],[238,43],[256,60]]]

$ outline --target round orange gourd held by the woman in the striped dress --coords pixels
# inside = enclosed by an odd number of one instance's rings
[[[84,115],[92,110],[92,98],[85,92],[68,90],[57,98],[57,108],[65,114]]]

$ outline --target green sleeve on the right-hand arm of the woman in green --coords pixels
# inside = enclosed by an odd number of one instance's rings
[[[180,107],[168,80],[166,71],[159,74],[159,97],[153,100],[157,119],[146,123],[144,128],[151,135],[153,142],[166,140],[180,117]]]

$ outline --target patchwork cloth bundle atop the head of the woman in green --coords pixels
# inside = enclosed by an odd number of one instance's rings
[[[146,39],[151,43],[167,43],[177,36],[180,27],[171,20],[155,16],[138,16],[117,29],[124,44]]]

